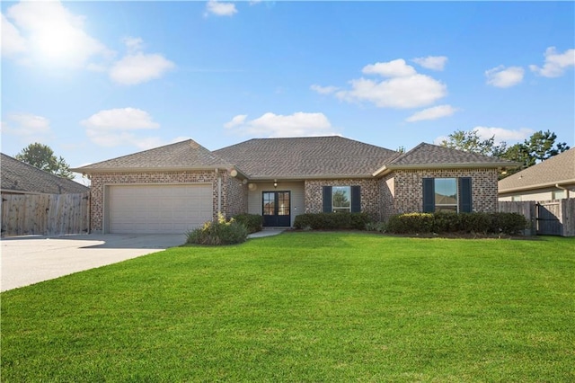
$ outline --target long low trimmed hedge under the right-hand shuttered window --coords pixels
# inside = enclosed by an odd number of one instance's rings
[[[409,213],[393,216],[387,222],[387,231],[408,233],[465,233],[506,234],[521,233],[527,220],[517,213]]]

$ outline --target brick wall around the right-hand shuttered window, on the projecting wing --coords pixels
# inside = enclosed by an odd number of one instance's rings
[[[388,174],[379,183],[382,219],[423,211],[423,178],[471,177],[473,211],[496,212],[497,176],[497,169],[400,170]],[[393,191],[390,185],[393,185]]]

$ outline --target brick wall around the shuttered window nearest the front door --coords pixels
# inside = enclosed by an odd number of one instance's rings
[[[361,211],[367,212],[373,219],[380,216],[379,182],[375,179],[345,180],[306,180],[305,212],[321,213],[323,211],[323,186],[355,186],[361,188]]]

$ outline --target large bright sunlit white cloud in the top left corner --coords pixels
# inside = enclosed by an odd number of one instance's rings
[[[106,60],[113,55],[84,31],[84,16],[70,13],[60,2],[21,2],[8,8],[6,17],[13,21],[13,28],[6,24],[6,41],[20,53],[27,47],[31,62],[85,67],[93,59]]]

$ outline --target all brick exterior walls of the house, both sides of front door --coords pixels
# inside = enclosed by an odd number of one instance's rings
[[[248,212],[248,187],[241,180],[220,170],[222,178],[222,213],[226,218]],[[95,232],[103,230],[104,186],[112,184],[166,184],[211,183],[212,207],[217,218],[218,174],[199,172],[142,172],[92,174],[91,227]],[[375,220],[387,220],[394,214],[421,212],[423,209],[423,178],[472,178],[473,211],[496,212],[497,169],[436,169],[401,170],[381,179],[306,180],[305,212],[323,211],[323,186],[361,187],[361,211]]]

